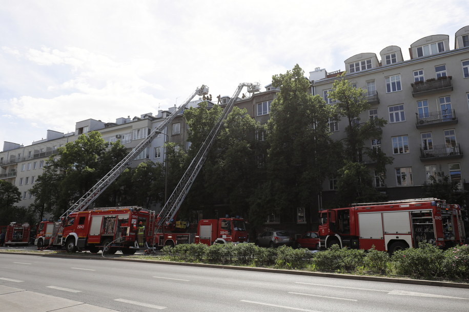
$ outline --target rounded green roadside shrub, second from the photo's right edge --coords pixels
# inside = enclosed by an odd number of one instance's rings
[[[413,277],[440,276],[443,259],[441,249],[424,242],[418,248],[400,250],[392,256],[397,273]]]

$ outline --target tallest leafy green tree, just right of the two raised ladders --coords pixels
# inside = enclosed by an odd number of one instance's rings
[[[295,220],[298,207],[309,212],[315,206],[322,183],[331,174],[334,155],[338,155],[333,152],[337,144],[328,127],[333,111],[320,96],[309,93],[310,81],[298,65],[274,75],[272,85],[280,92],[272,102],[268,121],[268,181],[261,186],[263,204],[258,201],[253,206],[264,215],[273,212]]]

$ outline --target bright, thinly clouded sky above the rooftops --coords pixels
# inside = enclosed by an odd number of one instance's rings
[[[0,150],[89,118],[156,115],[201,85],[231,96],[391,45],[406,60],[434,34],[453,49],[467,16],[467,0],[0,0]]]

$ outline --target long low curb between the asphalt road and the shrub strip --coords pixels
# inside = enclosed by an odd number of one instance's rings
[[[392,278],[392,277],[379,277],[379,276],[365,276],[365,275],[346,275],[337,273],[322,273],[322,272],[308,272],[308,271],[296,271],[266,267],[250,267],[250,266],[233,266],[233,265],[220,265],[220,264],[205,264],[205,263],[190,263],[190,262],[172,262],[172,261],[158,261],[158,260],[140,260],[132,258],[105,258],[96,256],[75,256],[75,255],[48,255],[48,254],[35,254],[35,253],[14,253],[14,252],[0,252],[0,254],[21,254],[29,256],[42,256],[42,257],[73,257],[78,259],[95,259],[95,260],[112,260],[112,261],[126,261],[126,262],[141,262],[141,263],[155,263],[155,264],[168,264],[168,265],[183,265],[183,266],[196,266],[196,267],[210,267],[210,268],[221,268],[221,269],[233,269],[242,271],[252,272],[268,272],[277,274],[290,274],[290,275],[302,275],[302,276],[316,276],[316,277],[329,277],[329,278],[341,278],[349,280],[361,280],[361,281],[374,281],[374,282],[387,282],[387,283],[399,283],[399,284],[412,284],[412,285],[426,285],[426,286],[439,286],[439,287],[454,287],[454,288],[465,288],[469,289],[469,283],[455,283],[455,282],[440,282],[430,280],[416,280],[416,279],[405,279],[405,278]]]

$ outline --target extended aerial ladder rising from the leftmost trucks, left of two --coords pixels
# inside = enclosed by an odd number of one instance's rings
[[[209,93],[209,88],[205,85],[198,87],[187,99],[183,102],[174,112],[166,117],[144,140],[142,140],[124,159],[115,165],[111,171],[108,172],[102,179],[100,179],[85,195],[81,196],[60,218],[70,215],[72,212],[84,211],[88,206],[101,194],[114,180],[124,172],[130,165],[132,160],[138,156],[159,134],[168,126],[174,117],[185,108],[192,98],[197,95],[206,95]]]

